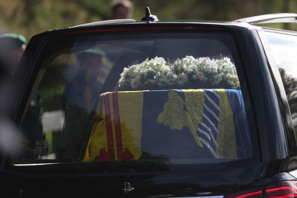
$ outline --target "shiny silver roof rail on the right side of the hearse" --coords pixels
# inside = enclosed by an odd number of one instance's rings
[[[247,22],[249,24],[258,23],[297,23],[297,14],[295,13],[278,13],[269,15],[260,15],[248,18],[242,18],[235,21]]]

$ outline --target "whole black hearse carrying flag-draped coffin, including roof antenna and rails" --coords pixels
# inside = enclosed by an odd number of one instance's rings
[[[296,21],[147,10],[32,37],[0,197],[295,197],[297,33],[252,24]]]

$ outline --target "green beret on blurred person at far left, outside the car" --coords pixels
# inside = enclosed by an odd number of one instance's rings
[[[12,51],[18,49],[23,44],[26,45],[27,40],[22,35],[2,34],[0,36],[0,50]]]

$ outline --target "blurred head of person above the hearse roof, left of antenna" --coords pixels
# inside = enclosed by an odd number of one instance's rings
[[[131,19],[134,6],[129,0],[114,0],[111,2],[112,19]]]

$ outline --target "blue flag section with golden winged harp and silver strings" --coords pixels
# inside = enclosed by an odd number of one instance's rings
[[[145,91],[141,145],[169,159],[252,156],[241,91]]]

